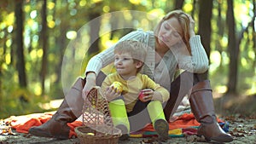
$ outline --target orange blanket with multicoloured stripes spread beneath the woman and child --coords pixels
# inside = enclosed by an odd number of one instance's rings
[[[9,123],[12,129],[15,129],[19,133],[28,133],[28,130],[32,126],[39,126],[44,124],[52,117],[55,112],[44,112],[44,113],[33,113],[24,116],[11,116],[10,118],[4,119],[5,123]],[[223,128],[224,121],[218,118],[218,124]],[[74,128],[77,126],[82,126],[83,122],[81,120],[76,120],[73,123],[67,124],[70,127],[69,137],[76,137]],[[183,113],[180,116],[177,116],[174,120],[169,122],[169,135],[174,136],[183,136],[195,135],[197,128],[200,124],[196,121],[193,113]],[[226,131],[226,130],[225,130]],[[143,130],[138,130],[137,132],[132,132],[131,137],[148,137],[154,136],[156,132],[154,131],[153,125],[148,124],[143,128]]]

